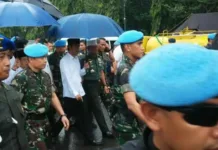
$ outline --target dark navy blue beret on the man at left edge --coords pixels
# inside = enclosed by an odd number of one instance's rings
[[[0,37],[0,51],[15,50],[15,44],[6,37]]]

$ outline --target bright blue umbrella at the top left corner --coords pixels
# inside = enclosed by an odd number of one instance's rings
[[[22,2],[0,3],[0,27],[48,26],[58,24],[46,11],[38,6]]]

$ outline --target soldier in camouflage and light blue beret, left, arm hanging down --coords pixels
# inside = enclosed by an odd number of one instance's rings
[[[22,104],[27,112],[25,127],[30,148],[46,150],[50,128],[46,113],[50,105],[61,115],[66,130],[69,121],[52,89],[49,75],[42,71],[46,65],[48,48],[42,44],[32,44],[25,47],[24,53],[28,56],[28,68],[17,74],[12,86],[24,94]]]

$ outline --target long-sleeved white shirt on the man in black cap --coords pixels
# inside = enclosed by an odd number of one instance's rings
[[[80,68],[79,58],[67,53],[60,61],[61,78],[63,84],[63,96],[75,98],[77,95],[84,96],[82,78],[86,70]]]

